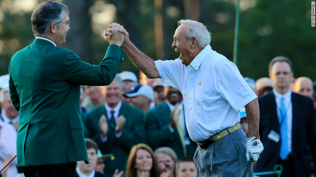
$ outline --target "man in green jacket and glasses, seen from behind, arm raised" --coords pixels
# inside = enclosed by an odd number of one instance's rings
[[[19,110],[18,166],[26,177],[74,177],[76,161],[88,163],[80,118],[80,85],[109,85],[124,57],[118,33],[99,65],[60,48],[70,29],[68,7],[45,1],[34,10],[36,39],[13,55],[9,89]],[[118,32],[119,24],[114,24]],[[108,39],[105,36],[105,39]],[[109,39],[108,39],[109,40]]]

